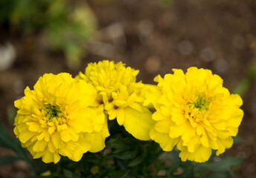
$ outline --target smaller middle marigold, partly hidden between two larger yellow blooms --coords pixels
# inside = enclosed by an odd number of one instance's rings
[[[154,124],[152,113],[142,104],[144,85],[136,82],[138,70],[125,67],[122,62],[115,64],[104,60],[89,63],[85,73],[79,73],[78,79],[84,79],[97,89],[95,106],[103,106],[109,119],[117,118],[119,125],[137,139],[149,140],[150,128]]]

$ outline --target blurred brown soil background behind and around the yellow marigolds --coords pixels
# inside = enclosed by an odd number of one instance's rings
[[[13,101],[33,88],[44,73],[83,71],[88,62],[121,61],[140,70],[138,80],[153,83],[159,73],[172,68],[204,67],[220,75],[225,88],[234,90],[256,61],[255,0],[117,0],[89,1],[98,30],[85,45],[86,56],[78,67],[65,62],[63,52],[51,50],[41,33],[22,35],[0,27],[0,44],[9,42],[15,51],[10,66],[0,71],[0,121],[8,121]],[[3,46],[1,50],[3,51]],[[0,57],[3,54],[0,53]],[[0,62],[1,62],[0,58]],[[243,141],[228,154],[246,159],[235,168],[235,177],[256,177],[256,82],[243,96]],[[0,156],[12,154],[0,148]],[[25,177],[22,162],[0,167],[0,177]]]

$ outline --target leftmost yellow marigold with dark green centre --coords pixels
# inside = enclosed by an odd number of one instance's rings
[[[91,107],[97,95],[92,85],[68,73],[49,73],[33,89],[14,102],[14,133],[34,159],[57,163],[62,155],[79,161],[86,151],[105,147],[109,131],[103,109]]]

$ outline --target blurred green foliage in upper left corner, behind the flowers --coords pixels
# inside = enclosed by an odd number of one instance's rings
[[[69,67],[77,67],[97,19],[83,1],[1,0],[0,24],[22,34],[44,33],[45,41],[63,50]]]

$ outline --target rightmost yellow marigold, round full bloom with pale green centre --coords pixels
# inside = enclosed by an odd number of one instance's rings
[[[182,161],[205,162],[212,149],[217,156],[231,148],[243,118],[242,99],[223,88],[223,79],[211,70],[188,68],[187,73],[173,69],[164,79],[156,76],[158,88],[146,93],[144,105],[153,103],[156,124],[151,139],[164,151],[181,151]]]

